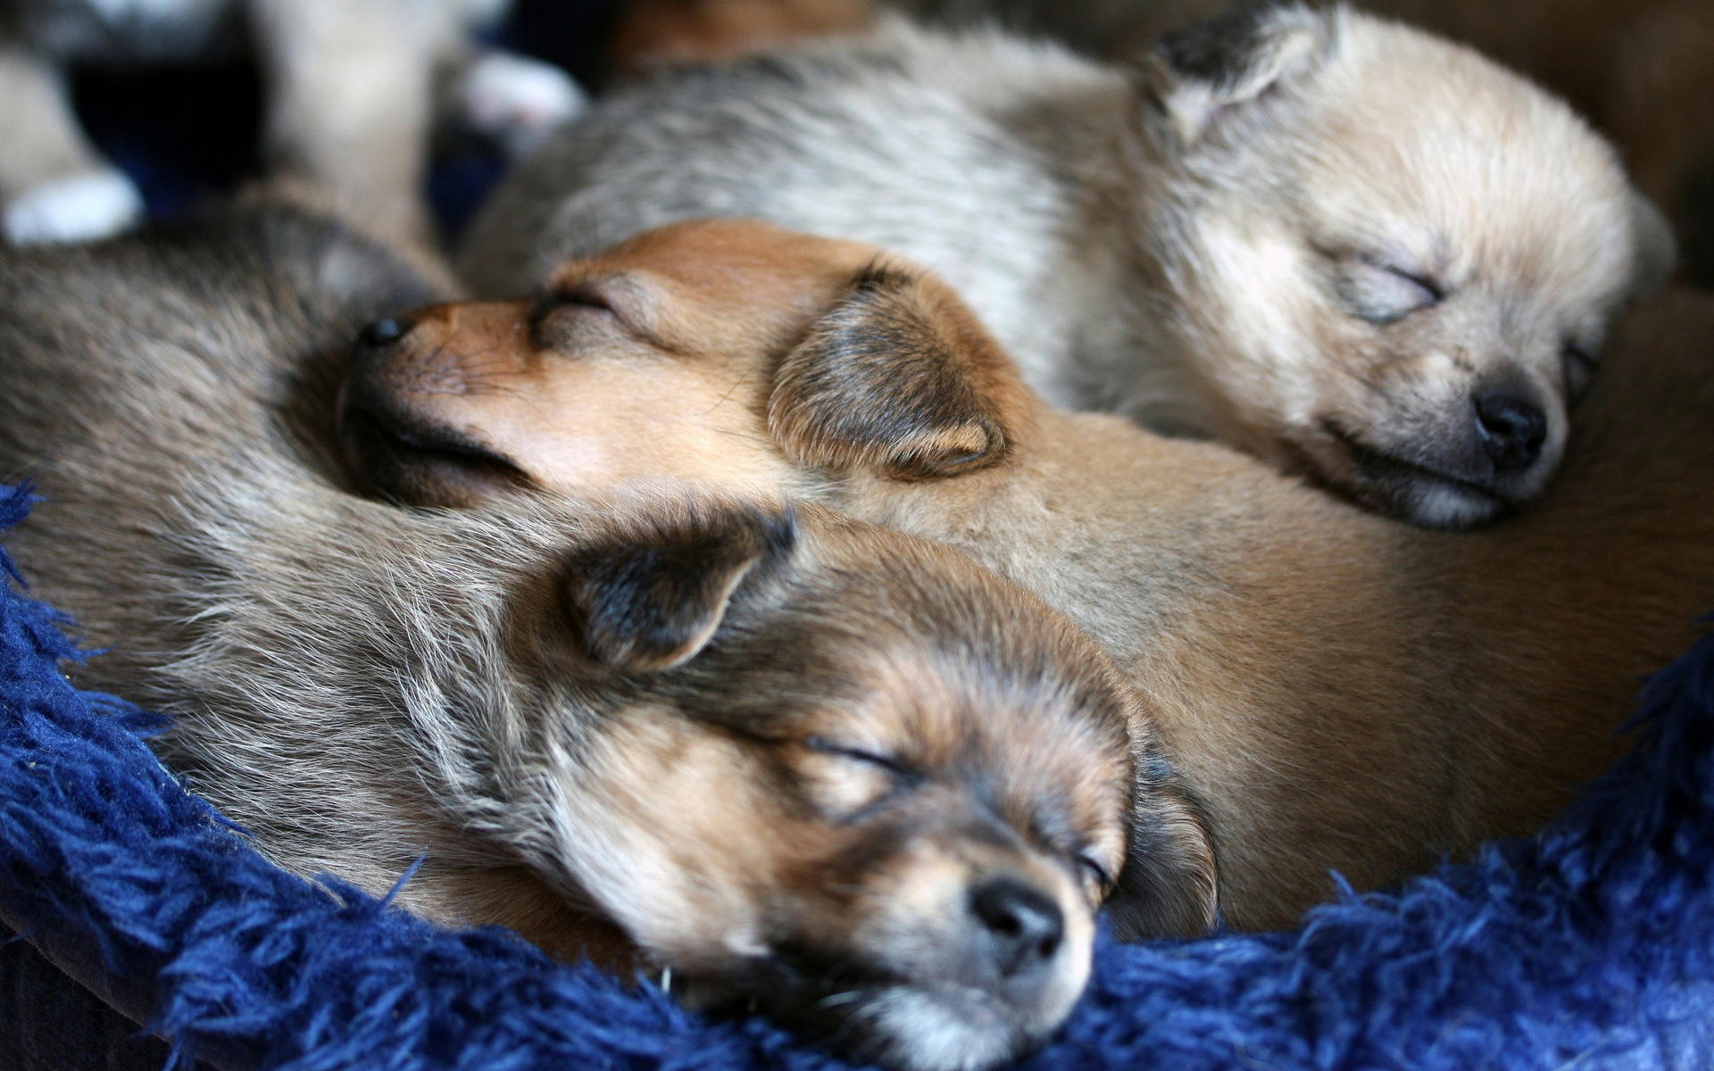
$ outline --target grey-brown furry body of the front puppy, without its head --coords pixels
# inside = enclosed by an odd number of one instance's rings
[[[495,787],[470,751],[564,699],[495,648],[509,591],[586,526],[353,499],[278,422],[326,401],[295,363],[430,296],[291,218],[0,264],[0,473],[46,495],[9,543],[113,648],[79,682],[171,713],[163,754],[276,862],[372,891],[428,847],[476,862],[459,824],[495,821]]]

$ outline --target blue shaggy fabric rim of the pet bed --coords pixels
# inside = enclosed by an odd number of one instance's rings
[[[26,509],[0,490],[0,524]],[[154,761],[147,715],[65,682],[69,622],[19,583],[0,579],[0,918],[180,1056],[838,1066],[766,1021],[703,1021],[506,932],[447,932],[271,867]],[[1104,942],[1030,1066],[1714,1066],[1714,643],[1659,673],[1639,718],[1635,752],[1536,840],[1347,896],[1296,932]]]

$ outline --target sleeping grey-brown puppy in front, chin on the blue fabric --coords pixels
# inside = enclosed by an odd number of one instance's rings
[[[307,877],[670,968],[862,1057],[979,1069],[1068,1014],[1109,894],[1214,918],[1126,682],[924,540],[662,485],[405,511],[324,476],[329,358],[430,291],[327,223],[0,255],[9,545],[173,715],[163,759]],[[1133,754],[1142,756],[1140,766]]]

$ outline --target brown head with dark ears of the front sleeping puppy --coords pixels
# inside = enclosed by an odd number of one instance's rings
[[[956,553],[814,509],[703,509],[579,548],[562,588],[538,658],[602,696],[602,728],[576,757],[523,749],[518,840],[691,1004],[986,1068],[1070,1013],[1118,884],[1155,932],[1208,925],[1176,780],[1128,805],[1116,670]]]

